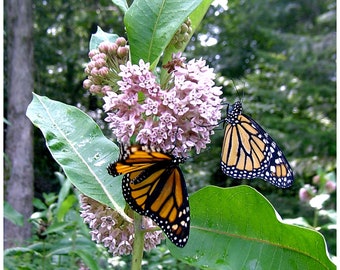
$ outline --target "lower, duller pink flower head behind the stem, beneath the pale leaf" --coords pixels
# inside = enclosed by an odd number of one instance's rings
[[[129,255],[135,239],[134,226],[120,214],[90,197],[80,195],[80,216],[91,229],[92,241],[101,243],[113,255]],[[144,235],[144,250],[149,251],[165,239],[161,230],[154,231],[153,221],[143,217],[143,227],[150,230]]]

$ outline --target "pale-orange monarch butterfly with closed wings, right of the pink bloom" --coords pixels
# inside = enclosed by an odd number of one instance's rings
[[[242,103],[227,109],[221,154],[224,174],[236,179],[261,178],[274,186],[292,185],[293,171],[276,142],[249,116]]]

